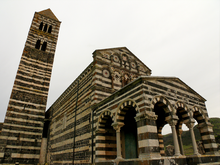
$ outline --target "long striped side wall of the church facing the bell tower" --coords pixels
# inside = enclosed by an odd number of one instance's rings
[[[47,111],[47,162],[51,164],[90,162],[93,71],[91,63]]]

